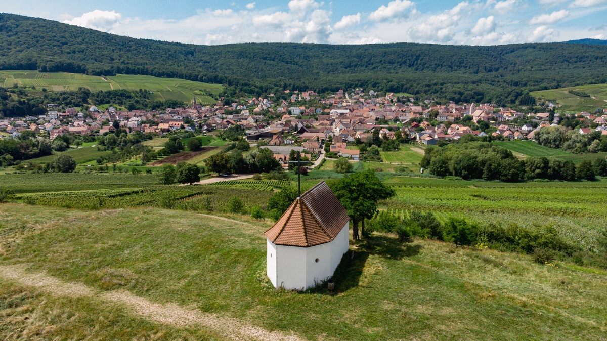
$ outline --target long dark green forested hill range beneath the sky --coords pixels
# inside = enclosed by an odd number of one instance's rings
[[[524,90],[607,83],[607,46],[515,44],[229,44],[134,39],[0,14],[0,69],[132,73],[261,94],[350,87],[459,101],[514,103]]]

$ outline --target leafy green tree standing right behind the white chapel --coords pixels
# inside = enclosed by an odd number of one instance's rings
[[[372,218],[378,211],[378,201],[395,195],[395,191],[382,183],[372,169],[345,175],[344,178],[331,184],[331,191],[348,211],[352,220],[354,240],[359,238],[359,221],[362,221],[364,233],[365,218]]]

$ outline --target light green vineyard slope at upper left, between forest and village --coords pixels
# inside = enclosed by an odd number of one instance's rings
[[[12,87],[13,84],[30,88],[32,95],[39,93],[42,88],[49,91],[78,90],[86,87],[91,91],[98,90],[139,90],[153,92],[152,100],[179,100],[192,103],[196,96],[198,104],[215,104],[208,94],[217,94],[222,90],[219,84],[208,84],[186,81],[177,78],[158,78],[141,75],[116,75],[105,79],[99,76],[82,75],[80,73],[42,73],[37,71],[0,71],[0,86]],[[35,89],[32,89],[35,87]]]

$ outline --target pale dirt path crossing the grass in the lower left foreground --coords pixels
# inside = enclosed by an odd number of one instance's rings
[[[177,327],[204,326],[222,337],[232,340],[302,340],[291,334],[266,331],[237,319],[219,317],[191,309],[181,308],[175,303],[158,304],[149,302],[124,290],[99,292],[80,283],[66,283],[44,273],[29,274],[24,265],[0,265],[0,276],[15,280],[22,285],[33,286],[55,296],[82,297],[97,296],[110,302],[127,306],[145,319]]]

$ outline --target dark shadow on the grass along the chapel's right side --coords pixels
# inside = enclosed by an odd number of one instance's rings
[[[336,295],[346,292],[359,285],[365,263],[370,255],[379,255],[380,257],[401,260],[403,257],[412,257],[421,252],[421,245],[404,244],[386,236],[372,236],[365,238],[358,245],[357,251],[348,251],[344,254],[335,269],[333,281],[335,289],[327,289],[327,281],[320,282],[316,288],[308,289],[307,292],[316,294]]]

